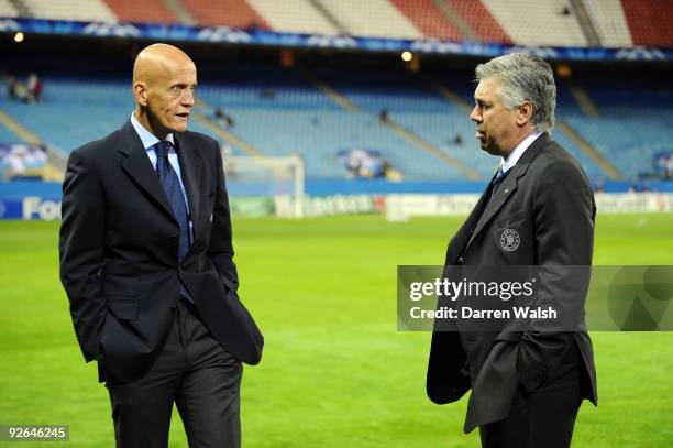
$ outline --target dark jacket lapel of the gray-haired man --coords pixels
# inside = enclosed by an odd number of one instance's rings
[[[511,195],[514,195],[519,185],[519,179],[526,175],[530,162],[534,159],[540,149],[550,141],[551,138],[547,132],[544,132],[534,142],[532,142],[532,144],[526,150],[523,155],[521,155],[521,159],[519,159],[517,164],[511,168],[512,172],[505,178],[503,185],[500,185],[498,192],[495,194],[493,199],[488,198],[490,200],[486,205],[486,209],[484,210],[484,214],[482,215],[482,218],[479,219],[477,227],[474,230],[474,233],[472,233],[472,238],[470,238],[470,241],[467,241],[467,245],[465,247],[465,249],[468,248],[472,241],[474,241],[477,236],[479,236],[484,231],[486,226],[493,220],[493,218],[498,214],[498,211],[500,211],[505,203],[507,203],[507,199],[509,199]],[[490,188],[488,188],[488,192],[490,192]]]

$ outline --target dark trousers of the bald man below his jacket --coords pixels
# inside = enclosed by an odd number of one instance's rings
[[[173,403],[191,448],[239,448],[239,386],[243,369],[181,301],[168,340],[141,380],[106,383],[120,448],[165,448]]]

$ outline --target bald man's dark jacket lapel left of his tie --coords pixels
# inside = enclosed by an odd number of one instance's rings
[[[121,141],[117,150],[126,155],[126,159],[121,164],[122,168],[175,221],[170,203],[168,203],[158,176],[152,168],[152,162],[150,162],[147,152],[143,147],[143,143],[135,129],[133,129],[131,120],[126,121],[122,127],[120,135]]]

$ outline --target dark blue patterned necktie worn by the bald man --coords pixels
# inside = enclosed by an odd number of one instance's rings
[[[185,259],[185,254],[189,249],[189,218],[187,216],[187,205],[185,204],[180,181],[168,161],[168,152],[172,146],[170,142],[164,140],[154,145],[154,151],[156,153],[156,174],[158,175],[162,187],[164,187],[164,192],[166,192],[166,197],[168,198],[168,203],[170,203],[170,208],[180,228],[177,258],[179,264]],[[183,282],[180,282],[180,295],[194,302],[187,289],[185,289]]]

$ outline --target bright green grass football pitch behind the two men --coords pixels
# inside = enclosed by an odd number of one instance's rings
[[[243,446],[478,446],[462,434],[466,397],[426,397],[430,334],[396,330],[396,266],[441,264],[462,220],[234,220],[240,295],[266,339],[243,375]],[[49,447],[110,447],[109,397],[77,347],[57,241],[58,222],[0,222],[0,425],[66,424],[70,440]],[[599,215],[594,263],[673,264],[673,214]],[[599,406],[584,402],[573,447],[673,446],[673,332],[592,338]],[[187,446],[177,412],[170,446]]]

